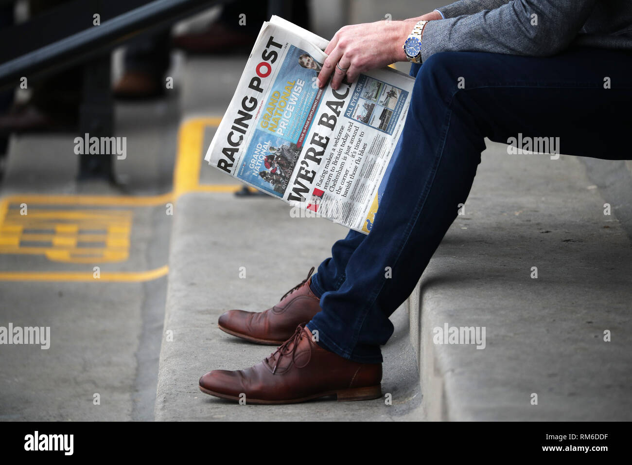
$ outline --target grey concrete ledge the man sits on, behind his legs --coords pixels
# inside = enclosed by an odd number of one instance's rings
[[[408,300],[428,419],[632,419],[632,247],[595,187],[578,158],[488,144]],[[446,323],[485,349],[434,344]]]

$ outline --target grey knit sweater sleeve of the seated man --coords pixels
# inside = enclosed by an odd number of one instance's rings
[[[547,56],[577,44],[632,49],[632,0],[459,0],[423,30],[422,60],[441,51]]]

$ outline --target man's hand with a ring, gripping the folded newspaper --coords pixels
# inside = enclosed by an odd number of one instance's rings
[[[432,11],[404,21],[378,21],[341,28],[325,49],[329,56],[318,75],[319,87],[327,84],[331,75],[331,87],[338,89],[345,75],[348,82],[353,82],[365,71],[406,61],[402,46],[415,24],[420,20],[440,19],[441,15]]]

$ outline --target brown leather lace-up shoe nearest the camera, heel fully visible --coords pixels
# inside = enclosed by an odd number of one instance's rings
[[[276,352],[248,369],[216,369],[200,378],[200,390],[246,404],[294,404],[336,395],[337,400],[377,399],[382,395],[382,364],[357,363],[329,352],[298,326]],[[245,397],[244,397],[245,396]]]

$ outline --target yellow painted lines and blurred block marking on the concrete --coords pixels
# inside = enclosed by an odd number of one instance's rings
[[[178,131],[178,151],[174,168],[173,190],[165,194],[145,196],[117,195],[9,195],[0,199],[0,254],[44,254],[49,260],[74,263],[123,261],[130,247],[131,211],[36,209],[32,206],[107,206],[152,207],[177,201],[187,192],[233,193],[241,184],[200,185],[204,130],[217,127],[221,118],[191,118]],[[253,192],[255,189],[249,188]],[[28,214],[9,206],[25,203]],[[118,216],[117,216],[118,215]],[[25,231],[26,230],[26,231]],[[53,230],[54,233],[47,232]],[[93,233],[82,233],[92,230]],[[94,231],[104,230],[105,234]],[[41,247],[20,242],[50,242]],[[105,247],[77,247],[77,243],[104,242]],[[138,273],[102,272],[102,282],[140,282],[159,278],[168,272],[167,265],[157,270]],[[0,272],[0,281],[96,281],[86,272]]]

